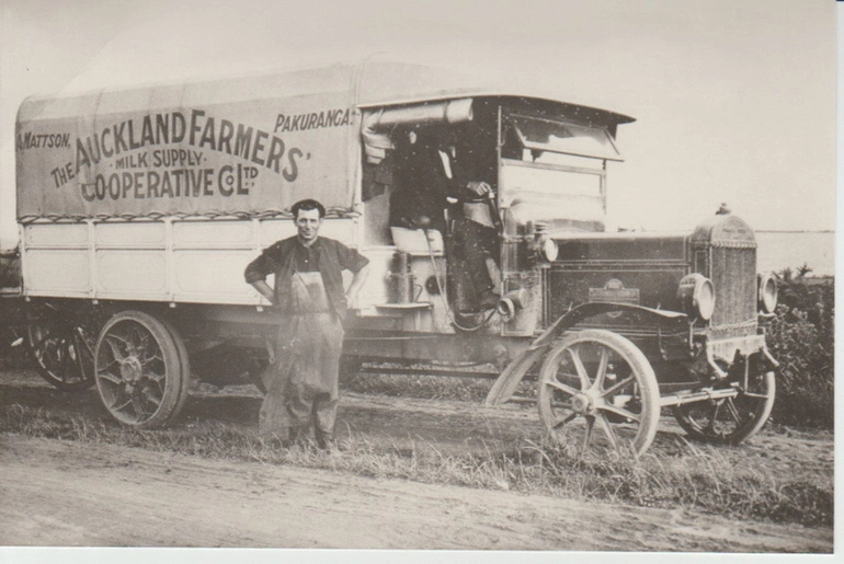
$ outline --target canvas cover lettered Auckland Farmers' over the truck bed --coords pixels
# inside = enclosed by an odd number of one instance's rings
[[[28,99],[18,216],[281,212],[353,205],[353,69]]]

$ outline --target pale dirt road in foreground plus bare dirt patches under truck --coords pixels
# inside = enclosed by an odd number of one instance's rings
[[[10,387],[10,378],[0,373],[0,393],[21,393],[21,401],[32,406],[98,408],[91,394],[69,401],[33,383],[37,380],[30,376],[15,375]],[[220,402],[227,406],[229,424],[252,425],[254,399],[205,399],[194,402],[186,416],[208,416],[206,411],[218,410]],[[399,441],[402,436],[404,440],[437,440],[440,434],[443,440],[437,447],[446,450],[481,440],[489,446],[490,440],[518,437],[536,425],[533,415],[520,410],[493,415],[465,413],[465,405],[460,410],[448,402],[360,396],[344,402],[342,417],[347,425],[380,422],[380,427],[372,428],[374,439],[387,437],[389,428],[390,440]],[[455,426],[459,426],[456,431]],[[444,433],[444,427],[452,427],[452,433]],[[750,449],[749,456],[764,456],[760,452],[767,449],[764,442],[762,446],[756,454]],[[816,447],[816,452],[822,450]],[[812,458],[807,456],[807,460]],[[792,463],[784,462],[796,471],[799,467]],[[683,509],[376,480],[14,434],[0,435],[0,544],[832,550],[829,527],[741,522]]]

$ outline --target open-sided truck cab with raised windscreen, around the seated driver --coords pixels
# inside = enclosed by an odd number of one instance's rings
[[[383,296],[381,300],[386,298],[397,306],[404,302],[406,307],[408,302],[431,303],[432,314],[424,316],[430,323],[418,324],[421,331],[450,332],[461,326],[477,330],[484,316],[483,312],[478,320],[464,315],[471,311],[466,307],[467,301],[471,304],[471,289],[466,288],[470,281],[466,281],[459,252],[452,244],[459,234],[455,238],[449,229],[425,233],[422,228],[402,226],[404,218],[396,217],[401,207],[396,203],[409,197],[402,182],[411,184],[408,176],[415,172],[403,170],[413,166],[408,159],[413,143],[408,139],[425,138],[433,145],[457,149],[456,162],[464,180],[491,186],[489,200],[450,198],[441,211],[449,228],[455,218],[464,217],[495,229],[497,245],[489,271],[501,297],[498,309],[502,315],[490,319],[482,331],[522,336],[538,331],[543,306],[534,290],[543,265],[547,267],[554,261],[555,237],[604,231],[606,163],[623,159],[615,137],[618,125],[629,122],[632,118],[611,112],[515,95],[365,108],[364,242],[372,244],[374,252],[383,246],[389,256],[396,252],[407,254],[402,265],[409,263],[410,276],[396,278],[415,288]],[[430,165],[440,166],[434,161]],[[411,189],[419,188],[414,185]],[[433,273],[437,258],[443,263],[440,278]],[[392,290],[398,291],[401,284],[397,283]],[[441,290],[444,298],[435,296]],[[414,299],[408,300],[407,296]],[[418,321],[417,313],[413,315]],[[460,319],[449,323],[449,316]]]

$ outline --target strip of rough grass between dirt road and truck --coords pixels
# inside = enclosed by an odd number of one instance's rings
[[[263,442],[252,428],[214,421],[137,430],[19,403],[5,406],[0,431],[579,500],[681,507],[743,519],[833,523],[832,484],[777,477],[764,468],[738,469],[719,449],[691,444],[682,446],[682,456],[650,451],[637,461],[618,452],[579,457],[529,442],[504,453],[444,454],[431,445],[381,446],[353,433],[340,441],[339,452],[321,452],[308,447],[280,449]]]

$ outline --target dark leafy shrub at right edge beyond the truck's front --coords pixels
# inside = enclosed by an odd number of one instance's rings
[[[772,419],[832,428],[834,421],[835,290],[833,279],[779,280],[779,306],[767,327],[780,366]]]

